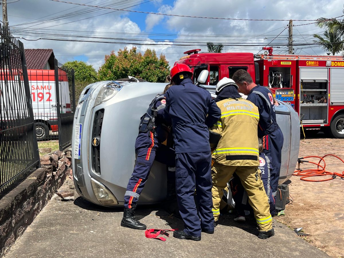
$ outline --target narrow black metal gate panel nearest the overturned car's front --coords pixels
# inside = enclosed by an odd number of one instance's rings
[[[56,109],[60,151],[71,146],[75,111],[74,70],[55,59]]]

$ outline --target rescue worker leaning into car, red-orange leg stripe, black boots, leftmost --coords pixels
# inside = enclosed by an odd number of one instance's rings
[[[158,94],[152,100],[146,114],[141,117],[139,135],[135,142],[136,164],[124,196],[122,227],[133,229],[147,228],[146,225],[140,223],[135,218],[135,209],[136,202],[148,179],[154,159],[168,166],[168,198],[171,197],[171,192],[174,192],[175,154],[170,148],[161,144],[166,140],[169,131],[168,126],[166,126],[168,121],[163,119],[163,113],[166,105],[164,93],[170,86],[171,84],[167,85],[163,94]]]

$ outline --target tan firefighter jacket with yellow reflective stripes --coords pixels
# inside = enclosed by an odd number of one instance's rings
[[[258,108],[242,98],[224,99],[216,104],[221,109],[221,118],[211,130],[221,134],[221,139],[212,157],[225,165],[258,166]]]

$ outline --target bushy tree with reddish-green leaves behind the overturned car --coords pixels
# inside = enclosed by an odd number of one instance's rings
[[[136,47],[127,47],[105,56],[105,63],[99,68],[99,80],[116,80],[133,76],[148,82],[165,82],[170,73],[169,63],[164,55],[157,57],[154,50],[147,49],[142,55]]]

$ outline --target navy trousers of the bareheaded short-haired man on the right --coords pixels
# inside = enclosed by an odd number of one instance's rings
[[[273,196],[276,196],[277,193],[281,170],[282,147],[283,134],[281,129],[278,128],[263,137],[263,153],[268,156],[271,162],[270,186]]]

